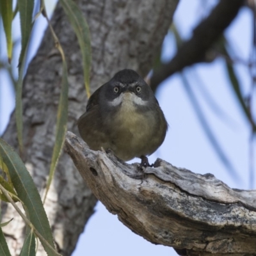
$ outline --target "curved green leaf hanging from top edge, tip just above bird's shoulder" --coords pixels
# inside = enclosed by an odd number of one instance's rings
[[[90,97],[90,66],[91,66],[91,40],[90,30],[83,13],[73,0],[60,0],[68,20],[74,29],[83,58],[84,84],[87,97]]]

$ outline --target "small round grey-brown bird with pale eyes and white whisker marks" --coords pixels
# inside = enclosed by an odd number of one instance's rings
[[[124,161],[141,166],[163,143],[168,124],[150,86],[134,70],[124,69],[96,90],[79,118],[79,133],[92,150],[111,148]]]

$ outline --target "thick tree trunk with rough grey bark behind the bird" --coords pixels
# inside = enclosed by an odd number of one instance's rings
[[[145,76],[159,52],[164,35],[179,0],[77,0],[86,17],[92,38],[92,92],[122,68],[132,68]],[[52,26],[65,50],[68,65],[68,130],[76,131],[76,120],[84,112],[86,96],[83,85],[81,52],[76,36],[58,5]],[[24,106],[24,161],[41,194],[49,173],[54,126],[60,96],[61,58],[54,47],[49,29],[40,49],[31,61],[22,102]],[[4,134],[4,140],[17,148],[15,118]],[[63,255],[74,250],[79,234],[93,213],[96,198],[84,184],[72,160],[63,154],[58,164],[45,210],[51,223],[57,247]],[[12,255],[22,246],[23,222],[12,207],[4,207],[3,219],[14,220],[4,228]],[[4,221],[3,220],[3,221]],[[37,255],[44,255],[39,253]]]

